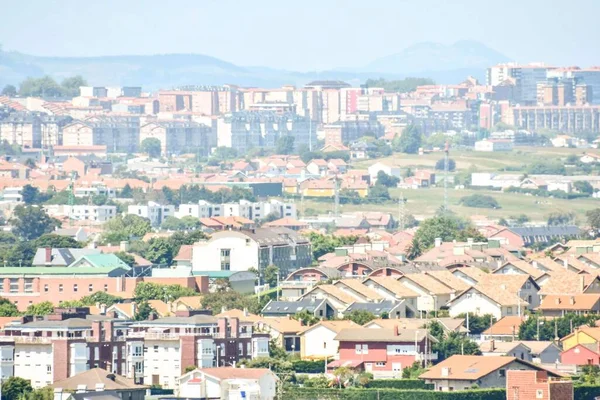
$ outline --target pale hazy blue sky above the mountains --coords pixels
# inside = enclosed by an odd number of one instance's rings
[[[294,70],[480,41],[520,62],[600,64],[600,0],[1,0],[0,43],[35,55],[200,53]]]

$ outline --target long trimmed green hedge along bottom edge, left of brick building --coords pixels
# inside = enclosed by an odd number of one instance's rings
[[[286,400],[505,400],[504,389],[474,389],[453,392],[397,389],[317,389],[291,388]]]

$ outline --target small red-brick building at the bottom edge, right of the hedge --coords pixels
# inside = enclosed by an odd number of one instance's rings
[[[546,371],[508,370],[506,400],[573,400],[573,381],[551,378]]]

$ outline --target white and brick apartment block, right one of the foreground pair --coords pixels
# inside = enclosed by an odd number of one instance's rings
[[[235,366],[269,355],[269,334],[255,332],[252,321],[200,310],[134,323],[126,340],[127,377],[167,389],[176,388],[187,367]]]

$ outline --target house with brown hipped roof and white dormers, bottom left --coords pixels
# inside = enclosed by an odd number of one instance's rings
[[[55,400],[68,400],[70,393],[111,393],[121,400],[144,400],[146,386],[137,385],[133,379],[125,378],[102,368],[91,368],[66,379],[54,382]]]

